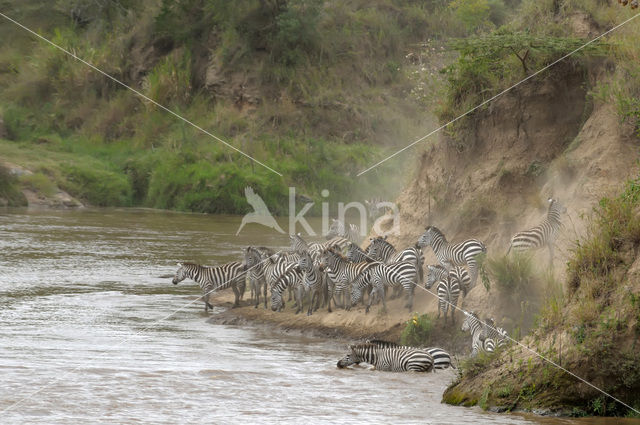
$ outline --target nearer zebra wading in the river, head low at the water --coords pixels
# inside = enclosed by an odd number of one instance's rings
[[[349,350],[350,353],[338,361],[339,369],[357,363],[369,363],[377,370],[389,372],[429,372],[433,369],[433,357],[420,348],[365,343],[351,345]]]

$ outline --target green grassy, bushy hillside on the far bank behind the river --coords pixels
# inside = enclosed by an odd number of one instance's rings
[[[0,149],[17,164],[46,168],[24,184],[44,187],[45,175],[49,187],[93,205],[244,213],[251,185],[283,213],[288,186],[332,206],[395,193],[408,175],[376,170],[351,182],[387,146],[423,131],[424,112],[406,96],[406,51],[429,37],[464,35],[441,0],[98,3],[3,7],[284,177],[5,25],[0,35],[12,43],[0,47],[8,138]],[[400,159],[389,164],[398,168],[406,169]]]

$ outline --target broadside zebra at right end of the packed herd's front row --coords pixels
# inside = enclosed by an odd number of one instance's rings
[[[396,288],[401,287],[407,294],[407,303],[405,307],[411,311],[413,309],[413,293],[415,290],[415,282],[417,278],[416,265],[413,261],[398,261],[397,263],[384,264],[377,263],[369,272],[371,286],[371,294],[369,295],[369,303],[365,310],[369,312],[371,304],[376,296],[382,300],[384,310],[387,309],[385,301],[385,287]],[[355,289],[354,285],[353,289]],[[353,291],[352,289],[352,291]],[[352,299],[354,294],[352,292]]]

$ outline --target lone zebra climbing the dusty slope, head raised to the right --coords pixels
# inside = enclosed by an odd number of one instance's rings
[[[536,227],[516,233],[511,238],[507,255],[512,249],[525,251],[546,246],[549,249],[549,264],[553,266],[553,246],[558,237],[558,231],[562,227],[561,215],[566,212],[567,209],[557,199],[549,198],[547,217]]]

